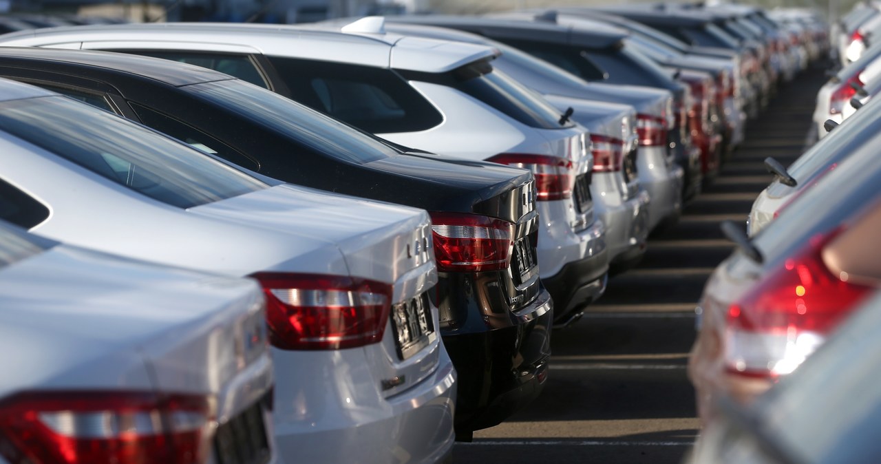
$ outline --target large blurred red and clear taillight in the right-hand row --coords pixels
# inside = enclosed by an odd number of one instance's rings
[[[808,240],[729,307],[729,372],[763,378],[793,372],[870,295],[870,287],[842,281],[825,266],[822,249],[838,232]]]

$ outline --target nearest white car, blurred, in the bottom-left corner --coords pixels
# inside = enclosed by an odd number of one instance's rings
[[[279,462],[253,280],[0,221],[0,341],[0,462]]]

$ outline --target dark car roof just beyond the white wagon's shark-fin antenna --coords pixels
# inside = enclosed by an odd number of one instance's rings
[[[611,27],[596,31],[573,31],[572,27],[552,23],[474,16],[397,16],[390,17],[389,22],[450,27],[493,38],[566,43],[590,48],[615,47],[629,34]]]

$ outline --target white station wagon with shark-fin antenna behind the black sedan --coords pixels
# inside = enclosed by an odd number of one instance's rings
[[[203,65],[396,144],[529,168],[537,178],[542,217],[537,245],[542,280],[549,289],[604,290],[602,269],[609,258],[604,225],[595,219],[589,195],[593,157],[586,129],[493,72],[492,48],[382,33],[381,18],[342,31],[322,27],[60,27],[9,34],[3,45],[121,51]],[[581,271],[585,268],[590,272]],[[585,276],[589,282],[569,280]],[[581,299],[556,303],[555,319],[565,320]]]

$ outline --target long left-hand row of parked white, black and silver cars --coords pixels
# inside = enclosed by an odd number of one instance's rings
[[[0,36],[2,330],[32,348],[0,455],[449,460],[541,392],[552,328],[676,222],[794,49],[823,50],[803,18]]]

